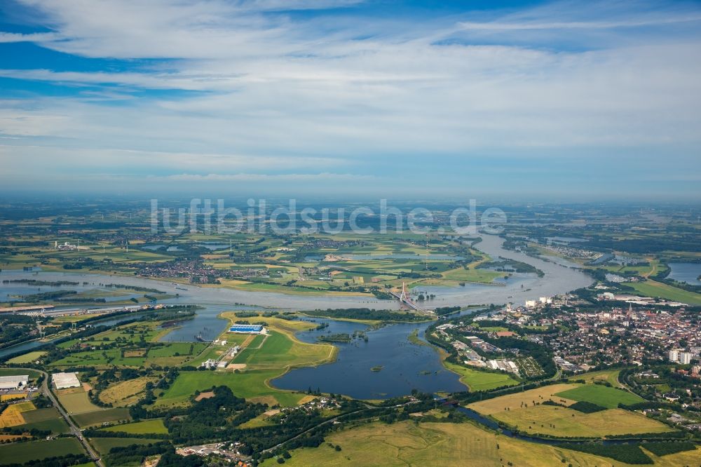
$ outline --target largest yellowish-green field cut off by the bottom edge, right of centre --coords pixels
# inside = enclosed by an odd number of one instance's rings
[[[472,424],[363,424],[334,432],[317,448],[294,449],[290,466],[610,466],[606,459],[483,431]],[[700,452],[701,454],[701,452]],[[701,460],[701,455],[697,456]],[[676,460],[676,459],[675,459]],[[263,466],[277,465],[268,459]],[[616,463],[616,465],[621,465]],[[625,464],[623,464],[625,465]],[[672,466],[674,464],[667,464]]]

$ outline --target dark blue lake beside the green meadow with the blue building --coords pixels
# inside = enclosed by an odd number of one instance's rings
[[[475,310],[470,311],[470,313]],[[323,334],[347,333],[367,329],[361,323],[305,318],[313,323],[328,323],[322,330],[298,332],[297,338],[316,343]],[[428,345],[409,342],[409,335],[418,330],[423,340],[426,327],[431,323],[397,323],[367,331],[367,339],[354,339],[351,343],[338,343],[336,362],[319,367],[304,367],[287,372],[273,379],[273,386],[281,389],[306,391],[320,388],[323,392],[341,393],[358,399],[383,399],[411,393],[412,389],[427,393],[465,391],[457,374],[446,370],[440,357]],[[381,367],[380,371],[372,371]]]

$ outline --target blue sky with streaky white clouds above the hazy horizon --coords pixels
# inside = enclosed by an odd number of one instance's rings
[[[701,200],[698,1],[3,0],[0,192]]]

